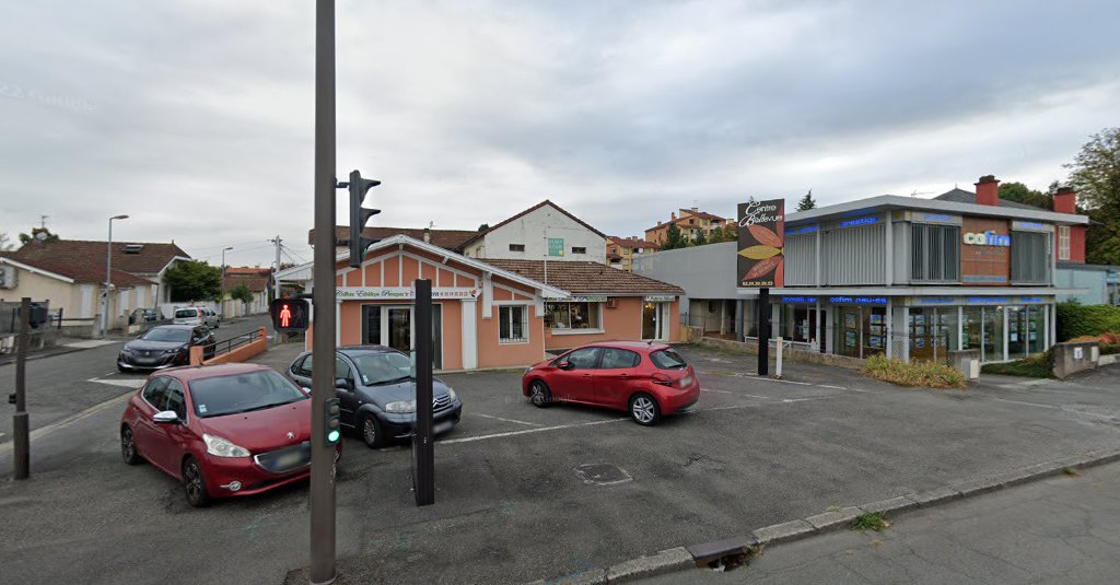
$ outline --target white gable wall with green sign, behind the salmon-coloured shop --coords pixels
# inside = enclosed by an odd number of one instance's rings
[[[607,243],[601,235],[548,205],[487,233],[467,247],[465,254],[470,258],[543,260],[548,254],[545,235],[563,239],[563,256],[548,257],[550,261],[584,260],[607,263]],[[523,244],[525,251],[511,252],[510,244]],[[587,253],[573,254],[572,247],[586,248]]]

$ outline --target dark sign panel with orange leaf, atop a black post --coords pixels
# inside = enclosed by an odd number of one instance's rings
[[[785,275],[785,199],[740,203],[739,253],[736,257],[740,287],[781,287]]]

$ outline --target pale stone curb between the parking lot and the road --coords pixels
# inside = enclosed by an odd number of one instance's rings
[[[791,520],[778,524],[754,530],[748,536],[739,536],[713,542],[703,542],[689,547],[678,547],[662,550],[653,556],[638,557],[609,567],[597,567],[581,570],[563,577],[541,579],[530,585],[564,584],[564,585],[600,585],[623,583],[664,573],[697,568],[727,556],[749,555],[762,547],[801,540],[815,535],[836,531],[851,524],[865,513],[902,513],[920,508],[951,502],[953,500],[982,495],[1005,487],[1014,487],[1033,481],[1060,475],[1066,470],[1083,470],[1120,461],[1120,448],[1096,449],[1083,455],[1062,457],[1021,467],[1010,472],[997,473],[954,483],[945,487],[920,493],[909,493],[868,502],[862,505],[851,505],[803,519]]]

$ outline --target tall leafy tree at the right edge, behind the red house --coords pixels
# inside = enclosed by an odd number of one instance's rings
[[[1073,162],[1070,185],[1089,215],[1085,260],[1120,263],[1120,127],[1090,137]]]

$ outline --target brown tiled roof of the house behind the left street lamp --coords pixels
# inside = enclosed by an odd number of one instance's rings
[[[124,253],[132,247],[137,253]],[[175,257],[190,258],[175,243],[113,242],[113,268],[133,275],[156,275]],[[49,262],[73,267],[105,267],[105,242],[88,240],[31,241],[16,250],[15,260]],[[101,276],[105,278],[104,272]]]

